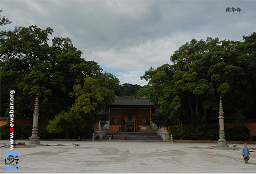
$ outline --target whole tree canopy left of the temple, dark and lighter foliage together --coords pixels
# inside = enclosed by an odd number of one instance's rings
[[[5,16],[0,21],[11,23]],[[33,25],[1,31],[1,111],[6,111],[1,117],[9,115],[10,90],[15,90],[15,118],[32,117],[38,93],[40,117],[49,121],[49,132],[58,123],[84,128],[114,102],[119,80],[82,58],[70,38],[55,37],[50,46],[52,34],[52,28]]]

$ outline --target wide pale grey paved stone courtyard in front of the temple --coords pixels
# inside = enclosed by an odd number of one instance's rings
[[[1,141],[8,143],[8,141]],[[23,141],[26,142],[27,141]],[[1,173],[255,173],[256,152],[245,165],[241,150],[204,149],[206,143],[41,141],[31,148],[1,148]],[[72,146],[79,143],[81,146]],[[243,147],[243,144],[237,144]],[[256,147],[249,144],[248,147]],[[19,170],[6,170],[6,152],[18,152]]]

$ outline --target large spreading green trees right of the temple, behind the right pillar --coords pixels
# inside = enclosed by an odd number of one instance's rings
[[[137,94],[151,96],[170,120],[207,124],[218,118],[219,96],[224,97],[225,117],[255,118],[250,112],[255,104],[255,33],[244,40],[192,39],[170,57],[173,65],[145,72],[141,78],[148,85]]]

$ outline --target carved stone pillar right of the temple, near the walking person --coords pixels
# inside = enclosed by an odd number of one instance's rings
[[[221,99],[221,97],[220,97],[220,99]],[[220,120],[220,132],[219,132],[220,139],[217,141],[218,142],[217,147],[228,147],[227,141],[225,140],[224,112],[223,112],[223,106],[222,106],[221,100],[220,100],[219,120]]]

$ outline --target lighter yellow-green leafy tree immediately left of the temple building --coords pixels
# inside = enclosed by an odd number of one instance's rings
[[[101,73],[98,78],[87,77],[83,85],[74,85],[74,91],[70,95],[75,97],[75,102],[71,109],[55,116],[47,130],[50,133],[61,133],[64,131],[61,123],[65,123],[79,127],[80,132],[84,132],[87,126],[92,126],[97,113],[115,101],[118,85],[119,80],[110,73]]]

